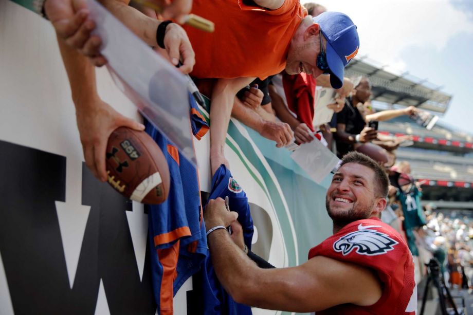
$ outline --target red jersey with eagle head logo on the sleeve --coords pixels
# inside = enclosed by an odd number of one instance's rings
[[[342,304],[318,311],[317,315],[415,314],[414,258],[402,236],[380,219],[357,220],[343,227],[313,247],[308,258],[318,255],[374,270],[383,283],[383,294],[371,306]]]

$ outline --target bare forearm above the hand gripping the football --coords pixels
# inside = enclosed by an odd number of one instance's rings
[[[94,65],[78,50],[70,48],[59,38],[58,45],[74,104],[76,107],[78,104],[90,104],[81,100],[98,98]]]

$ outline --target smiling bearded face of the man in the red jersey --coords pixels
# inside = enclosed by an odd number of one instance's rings
[[[333,176],[325,206],[334,223],[344,226],[371,217],[378,199],[374,171],[361,164],[347,163]]]

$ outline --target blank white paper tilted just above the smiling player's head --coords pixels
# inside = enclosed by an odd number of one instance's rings
[[[321,183],[340,161],[318,139],[299,145],[290,157],[317,183]]]

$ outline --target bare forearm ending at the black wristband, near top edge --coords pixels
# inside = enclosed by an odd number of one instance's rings
[[[130,0],[99,0],[105,8],[112,12],[124,25],[150,46],[156,47],[156,31],[161,23],[151,18],[128,3]]]

